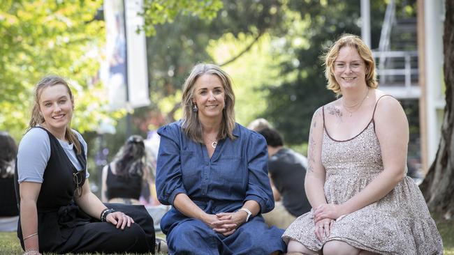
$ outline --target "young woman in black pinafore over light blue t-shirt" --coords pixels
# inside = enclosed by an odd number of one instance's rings
[[[17,153],[17,236],[24,254],[154,252],[143,206],[104,204],[89,189],[87,144],[71,130],[73,95],[61,77],[36,86],[29,130]]]

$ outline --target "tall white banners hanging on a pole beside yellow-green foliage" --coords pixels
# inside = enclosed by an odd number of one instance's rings
[[[149,105],[145,34],[136,33],[143,24],[140,10],[140,0],[104,1],[106,48],[101,79],[111,110]]]

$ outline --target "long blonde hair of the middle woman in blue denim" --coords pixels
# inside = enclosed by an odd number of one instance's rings
[[[224,93],[226,98],[225,107],[222,114],[221,128],[217,135],[217,139],[224,139],[229,137],[235,139],[233,136],[233,129],[235,128],[235,94],[233,93],[232,82],[230,77],[218,65],[210,63],[199,63],[192,68],[189,77],[183,85],[182,108],[183,108],[183,123],[182,129],[184,133],[193,141],[198,141],[203,144],[203,127],[198,120],[198,112],[193,111],[193,98],[197,79],[202,75],[216,75],[221,79],[224,86]]]

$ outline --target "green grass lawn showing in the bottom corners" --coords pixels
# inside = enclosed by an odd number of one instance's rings
[[[443,239],[444,254],[454,255],[454,219],[445,220],[439,215],[434,215],[434,219]],[[0,232],[0,254],[22,254],[15,232]]]

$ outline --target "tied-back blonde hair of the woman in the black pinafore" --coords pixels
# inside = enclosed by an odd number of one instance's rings
[[[71,88],[69,88],[68,83],[62,77],[55,76],[55,75],[43,77],[43,79],[41,79],[41,81],[39,81],[38,84],[36,84],[35,93],[34,93],[35,102],[34,102],[33,109],[31,110],[31,119],[30,119],[29,127],[28,127],[27,131],[33,127],[36,127],[36,125],[40,125],[40,124],[44,123],[44,118],[43,118],[43,116],[41,116],[40,111],[39,111],[40,110],[39,99],[41,98],[41,93],[43,92],[43,89],[47,88],[49,86],[55,86],[55,85],[60,85],[60,84],[66,87],[69,97],[71,98],[71,102],[74,105],[74,98],[73,98],[73,93],[71,92]],[[66,125],[65,139],[68,140],[68,142],[70,144],[74,144],[75,151],[77,154],[82,153],[80,141],[79,141],[77,135],[73,132],[73,130],[71,130],[71,121],[70,121],[70,123],[68,123],[68,125]]]

